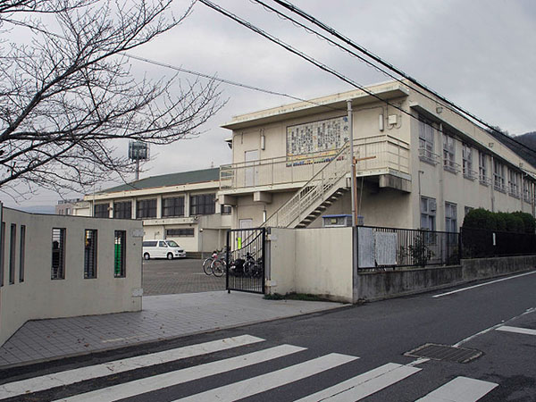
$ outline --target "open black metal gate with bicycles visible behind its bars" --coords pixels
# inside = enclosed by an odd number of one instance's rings
[[[226,289],[264,294],[264,239],[266,230],[227,231]]]

